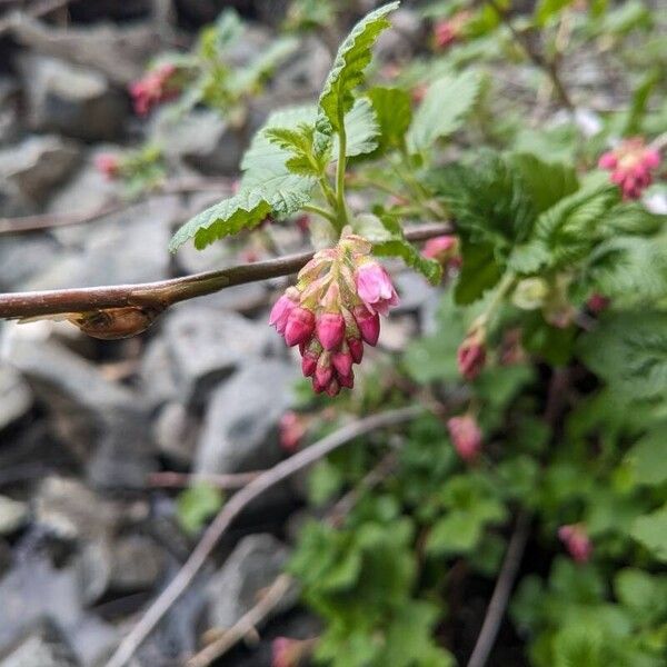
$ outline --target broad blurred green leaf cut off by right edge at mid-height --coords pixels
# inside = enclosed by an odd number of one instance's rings
[[[579,356],[610,388],[629,399],[663,398],[667,391],[667,312],[607,313],[583,336]]]

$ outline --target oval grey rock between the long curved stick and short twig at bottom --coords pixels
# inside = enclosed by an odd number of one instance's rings
[[[288,558],[287,547],[272,535],[245,537],[208,586],[209,621],[215,628],[229,628],[249,611],[262,589],[278,577]],[[296,590],[290,591],[275,609],[289,609]]]

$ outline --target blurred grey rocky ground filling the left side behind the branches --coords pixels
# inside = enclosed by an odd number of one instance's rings
[[[221,4],[180,2],[173,14],[162,2],[90,1],[72,4],[68,24],[57,13],[4,29],[0,228],[8,218],[71,218],[118,201],[119,186],[97,171],[94,157],[165,132],[159,121],[131,113],[127,84],[151,54],[187,46]],[[266,18],[270,3],[259,4]],[[404,19],[409,24],[409,12]],[[270,26],[256,22],[252,34],[265,43]],[[240,49],[240,62],[249,51]],[[313,99],[329,63],[328,49],[305,38],[253,107],[256,121],[276,106]],[[239,261],[239,250],[223,245],[173,258],[167,243],[178,225],[228,191],[241,150],[225,122],[196,111],[169,130],[170,169],[229,182],[153,195],[83,225],[1,233],[0,291],[159,280]],[[271,233],[282,251],[303,243],[298,231]],[[400,281],[404,316],[386,327],[390,347],[400,346],[415,326],[410,313],[428,300],[419,279]],[[175,491],[149,485],[151,472],[238,472],[285,456],[277,421],[292,400],[298,367],[267,326],[279,283],[182,305],[127,341],[94,341],[64,322],[2,325],[2,667],[103,664],[137,611],[178,571],[196,537],[178,526]],[[202,630],[237,620],[285,563],[286,519],[301,502],[295,484],[252,506],[133,665],[180,665]],[[268,665],[271,637],[307,637],[313,624],[298,608],[283,609],[259,647],[241,647],[220,664]]]

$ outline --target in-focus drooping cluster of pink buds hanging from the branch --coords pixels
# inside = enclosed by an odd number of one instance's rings
[[[352,365],[364,344],[375,346],[380,315],[397,306],[398,295],[385,268],[370,257],[370,243],[358,236],[316,252],[273,306],[269,323],[288,346],[299,346],[301,370],[317,394],[336,396],[355,384]]]

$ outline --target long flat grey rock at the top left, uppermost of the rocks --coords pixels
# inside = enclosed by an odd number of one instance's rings
[[[12,33],[34,52],[89,67],[122,87],[141,77],[146,61],[160,47],[151,24],[59,29],[24,17],[12,27]]]

